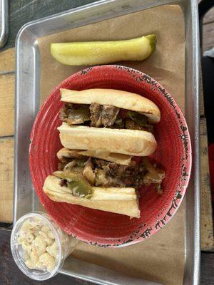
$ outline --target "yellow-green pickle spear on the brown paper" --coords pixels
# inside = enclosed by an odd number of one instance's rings
[[[153,34],[124,41],[51,43],[51,55],[68,66],[143,61],[155,49],[156,35]]]

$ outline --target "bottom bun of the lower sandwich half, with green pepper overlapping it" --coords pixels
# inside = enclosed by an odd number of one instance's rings
[[[138,199],[134,188],[101,188],[93,187],[93,196],[90,199],[75,197],[68,187],[59,185],[60,178],[48,176],[43,190],[49,198],[56,202],[78,204],[91,209],[126,214],[130,217],[140,217]]]

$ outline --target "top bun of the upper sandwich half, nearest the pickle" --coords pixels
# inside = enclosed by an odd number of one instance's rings
[[[151,123],[158,123],[161,113],[155,103],[147,98],[121,90],[114,89],[86,89],[82,91],[60,89],[61,101],[78,104],[98,103],[113,105],[126,110],[133,110],[146,115]]]

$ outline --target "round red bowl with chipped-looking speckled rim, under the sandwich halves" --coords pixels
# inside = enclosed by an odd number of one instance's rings
[[[160,108],[161,121],[155,126],[158,148],[151,159],[165,170],[164,192],[158,195],[153,187],[142,187],[139,219],[53,202],[44,194],[44,180],[57,169],[56,152],[62,147],[57,130],[58,125],[61,125],[58,113],[62,107],[59,88],[126,90],[151,99]],[[124,66],[95,66],[66,78],[49,95],[36,117],[31,133],[29,163],[41,204],[65,232],[89,244],[119,247],[151,237],[175,214],[190,177],[190,136],[175,100],[153,78]]]

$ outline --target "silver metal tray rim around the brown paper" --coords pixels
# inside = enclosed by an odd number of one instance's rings
[[[183,284],[200,283],[200,151],[199,151],[199,36],[197,0],[102,0],[24,25],[16,38],[16,142],[14,222],[39,209],[29,173],[29,134],[39,110],[39,47],[36,39],[96,21],[164,4],[178,4],[185,15],[185,118],[193,147],[193,171],[186,195],[185,274]],[[32,187],[33,188],[33,187]],[[96,284],[156,284],[69,258],[62,274]]]

